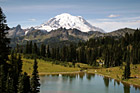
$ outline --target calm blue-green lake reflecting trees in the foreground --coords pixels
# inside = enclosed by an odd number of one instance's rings
[[[87,73],[40,76],[40,83],[40,93],[140,93],[139,88]]]

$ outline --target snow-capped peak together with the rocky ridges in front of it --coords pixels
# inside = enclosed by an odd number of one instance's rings
[[[8,30],[8,37],[11,38],[11,46],[15,46],[17,43],[25,44],[27,41],[33,41],[39,44],[51,43],[53,45],[58,42],[79,42],[87,41],[90,38],[106,36],[120,38],[125,36],[126,33],[133,34],[134,31],[135,29],[123,28],[113,32],[103,33],[103,30],[90,25],[82,17],[61,14],[38,27],[22,29],[20,25],[17,25]]]

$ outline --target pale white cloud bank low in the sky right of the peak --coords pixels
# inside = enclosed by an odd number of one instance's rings
[[[93,26],[111,32],[120,28],[140,28],[140,17],[88,20]]]

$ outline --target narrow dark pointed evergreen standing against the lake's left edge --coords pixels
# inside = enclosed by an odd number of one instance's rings
[[[32,93],[39,93],[40,89],[40,83],[39,83],[39,75],[38,75],[38,70],[37,70],[37,60],[34,60],[34,65],[33,65],[33,73],[32,73],[32,78],[31,78],[31,91]]]

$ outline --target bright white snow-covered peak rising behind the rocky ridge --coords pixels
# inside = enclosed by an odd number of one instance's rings
[[[54,18],[51,18],[48,22],[40,26],[36,26],[35,29],[51,31],[61,27],[66,29],[75,28],[83,32],[88,32],[88,31],[104,32],[102,29],[92,26],[81,16],[72,16],[68,13],[57,15]]]

